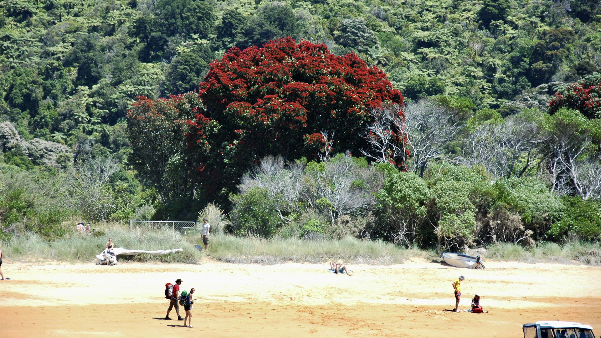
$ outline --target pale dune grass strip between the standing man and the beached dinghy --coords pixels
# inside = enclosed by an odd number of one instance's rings
[[[282,262],[320,263],[344,260],[350,263],[402,263],[410,257],[432,259],[430,251],[406,249],[385,241],[307,241],[298,238],[262,239],[231,235],[214,236],[209,256],[222,262],[272,264]]]

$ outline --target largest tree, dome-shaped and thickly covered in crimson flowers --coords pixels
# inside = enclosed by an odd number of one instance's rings
[[[202,107],[189,103],[198,107],[185,151],[195,154],[210,198],[224,201],[263,156],[314,157],[323,148],[322,131],[334,137],[333,152],[358,153],[368,147],[361,135],[370,109],[403,103],[385,73],[357,55],[337,57],[325,45],[290,37],[230,49],[210,64],[198,99]]]

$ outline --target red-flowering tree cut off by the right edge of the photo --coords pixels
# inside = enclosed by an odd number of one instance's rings
[[[549,114],[564,107],[578,110],[590,119],[601,118],[601,75],[589,75],[558,90],[549,102]]]

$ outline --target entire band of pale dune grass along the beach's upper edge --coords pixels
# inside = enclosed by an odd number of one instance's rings
[[[60,239],[49,241],[32,233],[14,236],[2,241],[2,251],[7,260],[59,260],[67,262],[92,262],[112,238],[116,247],[139,250],[165,250],[183,248],[181,253],[165,256],[142,254],[128,259],[138,262],[197,263],[203,257],[230,263],[273,264],[283,262],[320,263],[343,260],[347,263],[387,265],[402,263],[412,257],[438,260],[432,250],[403,248],[384,241],[362,241],[356,238],[308,241],[298,238],[260,239],[217,234],[210,238],[210,251],[198,251],[194,244],[202,244],[200,233],[186,235],[171,229],[129,229],[119,224],[101,226],[95,235],[70,232]],[[478,249],[484,262],[506,260],[518,262],[584,263],[601,265],[599,242],[546,242],[534,248],[515,244],[493,244]],[[121,259],[123,262],[124,259]]]

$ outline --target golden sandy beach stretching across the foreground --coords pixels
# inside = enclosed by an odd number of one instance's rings
[[[601,268],[489,262],[485,270],[415,260],[350,268],[325,264],[198,265],[7,263],[0,283],[2,337],[521,337],[539,320],[590,324],[601,333]],[[486,314],[453,313],[475,293]],[[196,289],[194,328],[166,321],[165,283]],[[183,315],[183,308],[182,308]],[[177,318],[175,313],[171,318]]]

